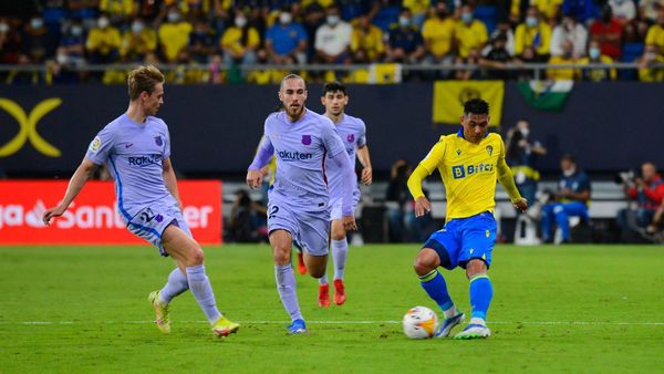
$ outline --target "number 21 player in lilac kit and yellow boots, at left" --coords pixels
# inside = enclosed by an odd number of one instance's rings
[[[154,116],[164,104],[164,75],[152,65],[141,66],[129,72],[127,85],[131,100],[127,112],[97,133],[70,179],[64,198],[44,212],[43,221],[49,225],[51,219],[64,214],[95,169],[106,164],[115,179],[117,208],[127,229],[177,263],[166,285],[148,297],[156,312],[157,328],[163,333],[170,332],[170,300],[191,290],[212,333],[228,336],[240,325],[217,309],[203,264],[203,249],[183,218],[170,163],[168,127]]]

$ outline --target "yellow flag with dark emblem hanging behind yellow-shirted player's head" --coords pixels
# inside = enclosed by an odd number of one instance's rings
[[[502,120],[502,81],[438,81],[434,83],[434,123],[458,124],[467,100],[480,97],[489,103],[489,125]]]

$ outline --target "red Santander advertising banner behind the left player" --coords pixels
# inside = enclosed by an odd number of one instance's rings
[[[112,181],[89,181],[68,211],[44,226],[43,212],[60,202],[68,184],[0,181],[0,245],[148,245],[120,219]],[[221,181],[181,180],[177,186],[194,238],[221,243]]]

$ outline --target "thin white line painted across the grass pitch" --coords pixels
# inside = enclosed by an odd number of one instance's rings
[[[288,324],[290,321],[238,321],[243,324]],[[102,324],[148,324],[154,321],[103,321]],[[174,321],[174,323],[207,323],[207,321]],[[308,324],[397,324],[401,321],[307,321]],[[489,321],[489,324],[530,324],[530,325],[634,325],[664,326],[664,322],[610,322],[610,321]],[[96,324],[87,321],[0,321],[0,325],[62,325],[62,324]]]

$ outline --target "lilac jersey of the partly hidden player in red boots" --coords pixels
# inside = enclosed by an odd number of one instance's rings
[[[366,145],[366,126],[364,125],[364,121],[344,114],[341,118],[341,122],[338,123],[335,127],[336,133],[339,134],[339,137],[341,137],[341,142],[345,146],[346,153],[349,154],[351,165],[355,167],[357,147],[363,147]],[[341,193],[335,194],[335,191],[341,191],[343,188],[343,174],[341,169],[334,163],[329,163],[326,175],[330,186],[330,194],[341,195]],[[360,189],[357,187],[357,179],[354,179],[353,183],[354,194],[359,195]]]

